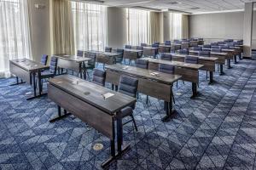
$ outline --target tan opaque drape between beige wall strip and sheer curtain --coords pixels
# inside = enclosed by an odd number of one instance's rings
[[[50,37],[52,54],[75,54],[72,2],[50,1]]]

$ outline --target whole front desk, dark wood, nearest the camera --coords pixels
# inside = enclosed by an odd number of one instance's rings
[[[104,94],[113,94],[113,96],[106,98]],[[108,166],[129,148],[128,145],[122,149],[123,124],[119,114],[126,106],[136,103],[137,99],[69,75],[49,80],[48,98],[58,106],[58,116],[50,122],[73,114],[110,139],[111,156],[102,163],[102,167]],[[61,114],[61,108],[64,109],[64,114]],[[116,132],[115,122],[117,122]],[[117,155],[115,154],[116,135]]]

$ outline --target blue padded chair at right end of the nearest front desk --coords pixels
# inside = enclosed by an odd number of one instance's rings
[[[119,93],[129,95],[133,98],[137,96],[137,86],[138,80],[136,78],[121,76],[119,79]],[[133,125],[137,131],[137,125],[133,116],[133,110],[135,109],[135,104],[126,106],[124,109],[120,111],[120,115],[122,118],[126,116],[131,116],[131,120],[128,122],[133,122]],[[123,123],[123,125],[127,124],[128,122]]]

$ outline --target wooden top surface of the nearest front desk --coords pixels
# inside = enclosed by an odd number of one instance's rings
[[[120,94],[93,82],[70,75],[51,78],[49,83],[111,115],[137,101],[137,99],[128,95]],[[113,96],[105,98],[104,94],[113,94]]]

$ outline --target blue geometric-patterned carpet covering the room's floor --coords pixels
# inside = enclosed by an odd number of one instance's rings
[[[132,123],[124,128],[129,150],[110,169],[253,169],[256,154],[256,60],[243,59],[209,86],[200,73],[200,96],[191,84],[174,87],[178,114],[170,122],[163,101],[140,94]],[[70,116],[49,123],[56,105],[47,97],[27,101],[29,85],[0,79],[0,169],[101,169],[108,139]],[[93,150],[96,143],[102,150]]]

